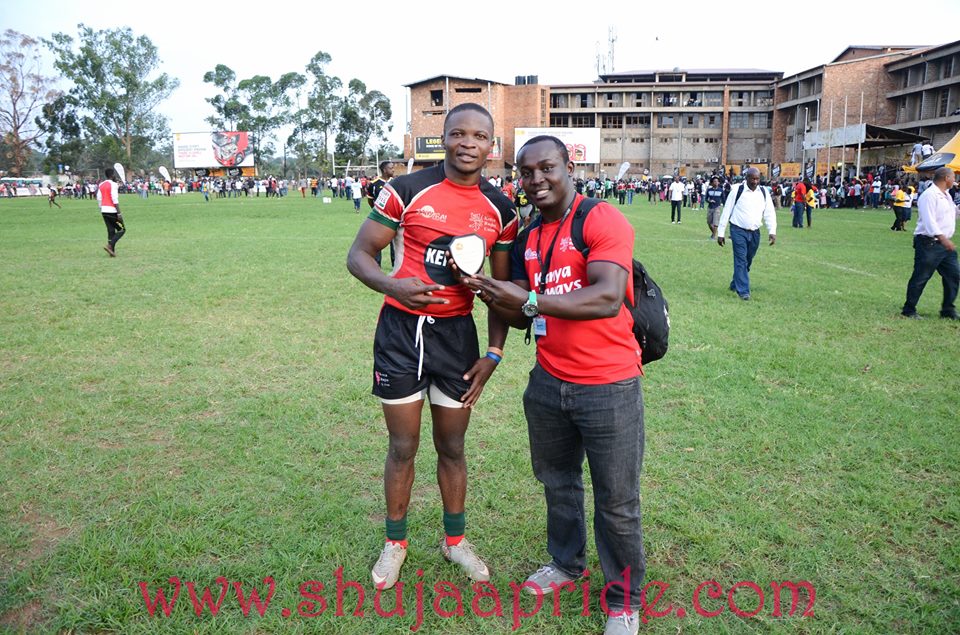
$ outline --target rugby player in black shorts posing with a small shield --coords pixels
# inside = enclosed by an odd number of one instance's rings
[[[387,540],[371,572],[381,589],[396,583],[407,556],[407,507],[426,397],[443,499],[446,536],[440,549],[471,579],[490,579],[487,565],[464,538],[463,448],[470,410],[503,356],[507,325],[488,312],[489,348],[481,357],[472,316],[475,296],[460,284],[447,258],[451,238],[472,234],[467,240],[482,239],[493,276],[508,279],[516,209],[481,178],[493,138],[493,118],[482,106],[451,109],[443,127],[443,163],[385,184],[347,256],[350,273],[386,296],[373,347],[373,394],[390,434],[384,467]],[[385,274],[375,257],[391,241],[397,260]]]

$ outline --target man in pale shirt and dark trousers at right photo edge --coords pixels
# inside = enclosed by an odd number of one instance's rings
[[[957,205],[947,193],[953,187],[953,170],[942,167],[933,173],[933,185],[920,195],[917,229],[913,232],[913,275],[907,283],[907,301],[901,313],[919,320],[917,302],[923,288],[936,271],[943,280],[943,304],[940,317],[960,319],[954,302],[960,287],[957,247],[950,239],[957,226]]]

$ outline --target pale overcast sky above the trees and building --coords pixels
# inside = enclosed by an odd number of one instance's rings
[[[960,37],[957,0],[656,5],[5,0],[0,15],[0,28],[34,37],[57,31],[76,37],[81,22],[101,29],[129,26],[148,36],[159,49],[162,70],[180,80],[161,108],[174,132],[209,129],[203,120],[212,110],[204,98],[216,90],[203,83],[203,74],[217,64],[232,68],[239,79],[276,79],[303,72],[317,51],[325,51],[333,58],[328,72],[344,85],[356,77],[390,98],[394,125],[388,138],[400,147],[404,84],[442,74],[505,83],[516,75],[538,75],[545,84],[589,83],[597,77],[598,51],[607,55],[611,26],[618,72],[760,68],[792,75],[829,62],[851,44],[945,44]]]

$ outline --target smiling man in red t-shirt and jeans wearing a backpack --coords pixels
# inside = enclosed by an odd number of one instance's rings
[[[624,299],[633,300],[634,231],[598,203],[578,250],[570,228],[584,200],[574,164],[556,137],[530,139],[517,155],[524,190],[540,218],[514,243],[513,282],[465,279],[511,325],[532,328],[537,364],[523,395],[534,475],[547,503],[552,557],[527,579],[553,593],[586,566],[584,455],[594,486],[594,530],[607,583],[606,633],[636,633],[646,569],[640,524],[643,395],[640,347]],[[532,320],[532,322],[531,322]]]

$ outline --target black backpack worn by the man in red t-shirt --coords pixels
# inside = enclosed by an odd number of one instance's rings
[[[573,214],[570,238],[584,259],[590,253],[590,248],[583,242],[583,223],[590,210],[602,202],[596,198],[584,198]],[[663,291],[636,258],[633,259],[633,298],[636,304],[631,305],[626,298],[623,303],[633,316],[633,336],[640,344],[641,361],[649,364],[667,354],[670,307],[667,299],[663,297]]]

